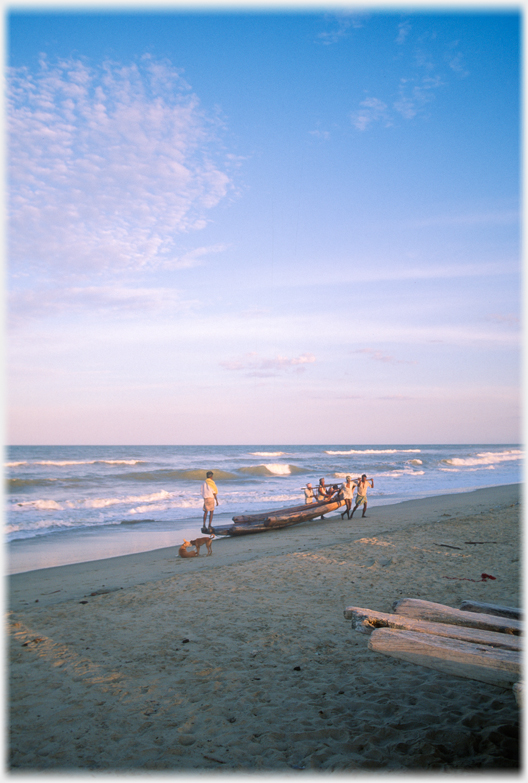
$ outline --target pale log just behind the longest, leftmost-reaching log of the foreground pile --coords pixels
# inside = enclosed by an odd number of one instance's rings
[[[430,620],[433,623],[448,623],[450,625],[465,625],[467,628],[481,628],[483,631],[498,633],[522,633],[522,623],[519,620],[509,620],[480,612],[463,612],[433,601],[422,601],[419,598],[402,598],[392,605],[396,614],[404,614],[417,620]]]

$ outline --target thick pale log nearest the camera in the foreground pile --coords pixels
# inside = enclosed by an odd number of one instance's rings
[[[496,650],[415,631],[378,628],[369,639],[369,649],[491,685],[511,685],[521,676],[521,654],[515,650]]]

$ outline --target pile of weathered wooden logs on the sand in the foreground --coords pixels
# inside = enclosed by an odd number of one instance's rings
[[[349,606],[352,628],[371,633],[369,649],[430,669],[510,686],[522,703],[520,609],[463,601],[460,609],[403,598],[394,614]]]

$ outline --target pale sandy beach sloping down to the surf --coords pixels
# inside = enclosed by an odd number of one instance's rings
[[[371,652],[343,612],[519,606],[519,496],[480,489],[216,540],[212,557],[169,547],[9,577],[9,768],[518,769],[511,688]]]

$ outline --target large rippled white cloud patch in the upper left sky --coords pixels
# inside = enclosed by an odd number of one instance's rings
[[[218,117],[181,73],[144,56],[10,73],[12,267],[62,275],[186,266],[179,235],[206,225],[231,163]]]

